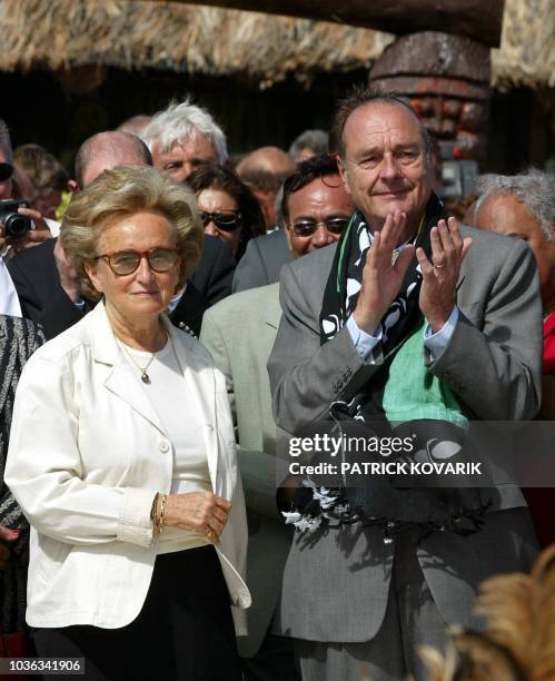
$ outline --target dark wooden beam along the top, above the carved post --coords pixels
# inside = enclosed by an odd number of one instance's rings
[[[174,0],[184,2],[185,0]],[[187,0],[269,14],[334,21],[397,36],[443,31],[499,47],[505,0]]]

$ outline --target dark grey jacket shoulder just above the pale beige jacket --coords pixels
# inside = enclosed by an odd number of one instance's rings
[[[285,229],[250,239],[234,275],[234,293],[279,282],[279,273],[293,260]]]

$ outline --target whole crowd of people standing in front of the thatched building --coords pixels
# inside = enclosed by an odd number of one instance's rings
[[[512,573],[554,598],[552,553],[525,576],[551,488],[280,474],[323,423],[439,461],[477,422],[555,420],[555,179],[480,176],[460,220],[435,149],[373,88],[235,168],[189,99],[83,140],[72,177],[0,120],[3,655],[98,680],[536,678],[499,603]]]

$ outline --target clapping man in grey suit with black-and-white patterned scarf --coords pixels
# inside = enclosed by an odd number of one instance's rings
[[[443,414],[469,427],[533,417],[542,313],[532,253],[445,219],[427,132],[402,99],[355,90],[336,129],[357,211],[337,247],[281,270],[268,362],[278,426],[298,434],[329,413],[412,423]],[[414,519],[389,520],[387,499],[381,522],[365,484],[358,507],[335,512],[314,494],[310,516],[299,496],[289,516],[297,532],[275,631],[296,639],[305,681],[425,678],[417,647],[442,647],[446,624],[470,622],[482,580],[527,570],[535,555],[514,484],[480,488],[477,506],[427,524],[417,506]],[[398,496],[387,495],[393,509]],[[303,533],[308,521],[317,530]]]

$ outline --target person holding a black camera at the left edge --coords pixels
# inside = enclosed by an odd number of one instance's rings
[[[23,174],[13,164],[8,126],[0,118],[0,255],[3,258],[52,237],[42,215],[28,207],[22,196],[24,184]]]

